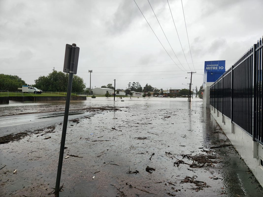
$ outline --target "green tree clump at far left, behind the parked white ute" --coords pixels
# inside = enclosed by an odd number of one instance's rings
[[[0,74],[0,90],[18,91],[23,85],[26,82],[16,75]]]

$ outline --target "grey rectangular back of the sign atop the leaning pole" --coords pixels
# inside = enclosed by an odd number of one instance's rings
[[[72,55],[73,47],[75,48],[75,55]],[[75,57],[75,60],[72,61],[74,62],[74,67],[71,68],[70,70],[71,56]],[[73,74],[77,74],[78,60],[79,60],[79,47],[66,44],[63,72],[70,73],[73,71]]]

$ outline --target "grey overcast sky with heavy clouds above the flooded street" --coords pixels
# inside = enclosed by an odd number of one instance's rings
[[[262,0],[183,0],[193,65],[181,0],[168,0],[175,25],[167,0],[149,0],[153,10],[147,0],[135,1],[165,49],[133,0],[0,0],[0,73],[34,84],[53,67],[62,71],[65,44],[76,43],[77,75],[86,87],[88,70],[93,88],[116,79],[121,89],[133,81],[187,88],[187,72],[196,71],[193,86],[199,89],[204,61],[226,60],[229,68],[262,38]]]

